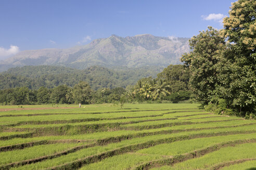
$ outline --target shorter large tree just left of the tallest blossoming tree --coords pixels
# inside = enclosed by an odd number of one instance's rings
[[[217,78],[217,63],[226,48],[225,38],[211,26],[189,40],[192,52],[182,56],[185,68],[189,73],[189,83],[196,99],[207,105],[215,95],[220,84]]]

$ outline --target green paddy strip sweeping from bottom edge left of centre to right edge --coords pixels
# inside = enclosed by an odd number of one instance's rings
[[[98,163],[86,165],[81,169],[125,169],[127,167],[133,167],[136,164],[143,163],[145,161],[148,162],[160,158],[167,158],[170,157],[170,155],[190,152],[199,148],[211,146],[213,144],[222,143],[224,141],[232,141],[245,138],[250,139],[255,136],[256,133],[176,141],[171,144],[162,144],[155,147],[142,149],[135,153],[133,152],[123,155],[117,155]]]

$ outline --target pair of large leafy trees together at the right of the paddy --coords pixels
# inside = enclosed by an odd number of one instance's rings
[[[252,118],[256,113],[256,2],[232,4],[224,29],[208,27],[190,40],[182,61],[194,96],[217,114]]]

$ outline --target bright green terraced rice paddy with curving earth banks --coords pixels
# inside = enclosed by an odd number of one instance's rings
[[[0,169],[256,169],[256,121],[198,106],[0,106]]]

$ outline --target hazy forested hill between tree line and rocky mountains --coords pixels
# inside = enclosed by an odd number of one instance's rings
[[[125,88],[135,84],[144,77],[156,77],[162,71],[161,67],[122,67],[109,69],[100,66],[92,66],[86,69],[75,69],[63,66],[23,66],[10,68],[8,71],[0,73],[0,89],[17,87],[28,87],[39,89],[44,86],[54,88],[61,84],[73,87],[79,81],[86,81],[90,86],[98,88]]]

